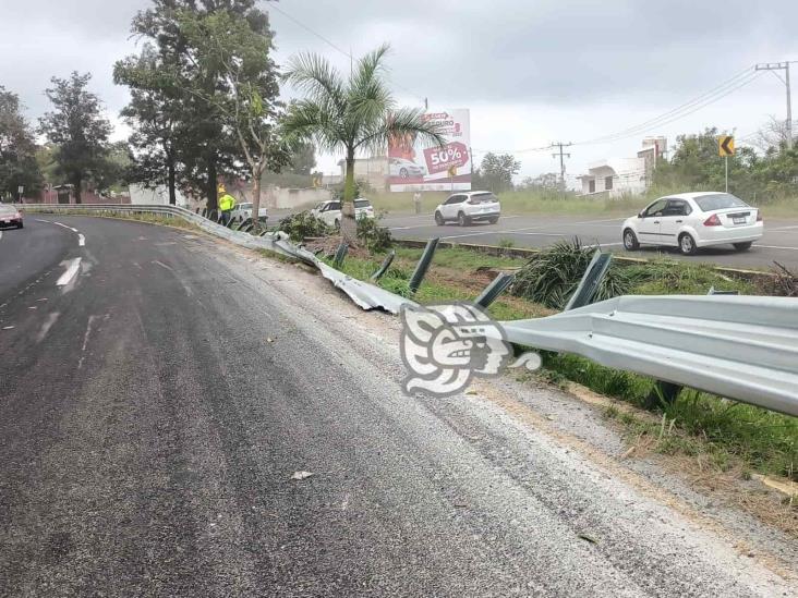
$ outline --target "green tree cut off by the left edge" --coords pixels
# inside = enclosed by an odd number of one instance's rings
[[[0,85],[0,197],[16,197],[21,186],[36,192],[41,182],[36,142],[20,97]]]

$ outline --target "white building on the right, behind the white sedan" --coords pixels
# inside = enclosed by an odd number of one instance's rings
[[[667,152],[665,137],[646,137],[634,158],[608,158],[588,166],[579,176],[580,195],[620,197],[644,193],[651,184],[656,162]]]

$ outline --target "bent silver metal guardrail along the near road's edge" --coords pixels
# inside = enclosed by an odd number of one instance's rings
[[[364,309],[397,314],[416,305],[353,279],[289,242],[233,231],[173,206],[24,205],[49,213],[160,213],[250,248],[263,248],[318,268]],[[496,282],[492,284],[497,284]],[[499,291],[500,292],[500,291]],[[495,289],[485,295],[495,298]],[[499,322],[510,342],[573,353],[598,364],[650,376],[798,416],[798,301],[789,297],[622,296],[545,318]]]

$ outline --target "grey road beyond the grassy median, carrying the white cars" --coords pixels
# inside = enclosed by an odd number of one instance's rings
[[[696,256],[682,256],[676,248],[644,247],[626,252],[620,240],[625,218],[585,216],[504,216],[498,223],[476,223],[460,228],[457,224],[436,227],[432,215],[388,216],[384,225],[396,239],[427,240],[439,236],[443,241],[499,245],[512,242],[515,247],[545,247],[564,239],[579,237],[584,244],[602,247],[632,257],[667,257],[690,261],[714,263],[734,268],[771,268],[773,261],[798,269],[798,220],[767,219],[765,234],[747,252],[718,246],[701,249]]]

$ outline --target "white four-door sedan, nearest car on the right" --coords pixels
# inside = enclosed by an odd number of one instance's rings
[[[758,208],[729,193],[680,193],[661,197],[624,222],[624,247],[678,247],[693,255],[701,247],[734,245],[748,249],[762,237],[764,222]]]

